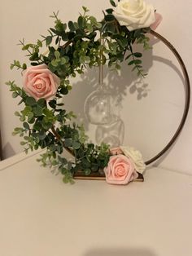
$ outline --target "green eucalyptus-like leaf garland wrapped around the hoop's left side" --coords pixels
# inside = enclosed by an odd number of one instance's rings
[[[110,1],[116,7],[114,1]],[[49,34],[37,40],[37,43],[20,41],[23,51],[27,51],[32,67],[46,64],[55,77],[59,77],[59,85],[53,99],[35,99],[15,82],[7,82],[13,98],[20,97],[24,109],[15,112],[22,127],[16,127],[13,134],[24,138],[21,145],[25,152],[46,148],[41,155],[43,166],[59,170],[63,174],[64,183],[73,182],[73,174],[83,170],[85,175],[103,170],[111,156],[109,145],[102,143],[95,145],[87,142],[83,126],[72,122],[74,113],[67,112],[59,99],[68,95],[72,89],[69,78],[84,73],[85,68],[107,65],[111,69],[120,69],[120,63],[126,61],[133,66],[133,71],[145,77],[142,69],[142,53],[133,51],[133,44],[142,44],[149,49],[149,38],[146,33],[150,27],[142,29],[129,29],[120,25],[113,15],[113,8],[103,11],[103,20],[99,22],[89,10],[83,7],[83,13],[78,19],[68,24],[59,20],[58,13],[51,17],[55,19],[54,28],[48,30]],[[47,54],[42,53],[43,47]],[[20,64],[14,60],[12,68],[28,70],[27,64]],[[74,156],[74,161],[63,157],[63,149],[67,149]]]

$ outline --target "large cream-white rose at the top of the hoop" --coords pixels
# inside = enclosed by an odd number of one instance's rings
[[[113,11],[116,20],[129,31],[150,27],[155,22],[155,9],[143,0],[121,0]]]

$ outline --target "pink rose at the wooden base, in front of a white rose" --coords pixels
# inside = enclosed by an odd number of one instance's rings
[[[111,184],[127,184],[137,178],[133,161],[124,155],[111,156],[104,173],[107,183]]]

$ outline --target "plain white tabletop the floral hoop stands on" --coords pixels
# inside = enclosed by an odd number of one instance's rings
[[[0,162],[1,256],[191,256],[192,177],[64,184],[37,154]]]

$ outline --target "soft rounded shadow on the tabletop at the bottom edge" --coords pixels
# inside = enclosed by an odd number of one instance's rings
[[[150,249],[92,249],[83,256],[157,256]]]

